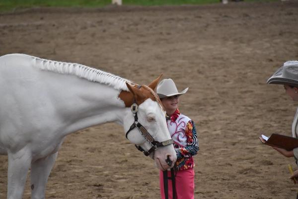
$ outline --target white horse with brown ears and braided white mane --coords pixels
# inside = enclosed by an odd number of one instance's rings
[[[150,153],[160,170],[171,168],[176,153],[153,92],[159,78],[140,88],[79,64],[1,56],[0,154],[8,155],[7,199],[22,198],[30,167],[31,199],[44,199],[65,136],[106,122],[123,125],[130,142]]]

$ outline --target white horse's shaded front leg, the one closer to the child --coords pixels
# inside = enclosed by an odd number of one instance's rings
[[[58,152],[31,164],[31,199],[45,199],[46,184],[57,155]]]

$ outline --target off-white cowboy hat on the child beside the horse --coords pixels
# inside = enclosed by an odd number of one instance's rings
[[[166,98],[170,96],[183,95],[188,91],[188,88],[182,92],[178,92],[176,85],[172,79],[164,79],[157,85],[156,93],[159,98]]]

